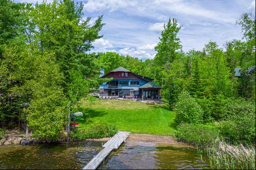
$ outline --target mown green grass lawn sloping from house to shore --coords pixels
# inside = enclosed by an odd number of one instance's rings
[[[175,112],[169,111],[164,104],[147,105],[136,101],[100,100],[92,105],[82,100],[81,110],[87,113],[89,121],[114,124],[120,131],[172,135]],[[87,126],[86,121],[77,121],[80,127]]]

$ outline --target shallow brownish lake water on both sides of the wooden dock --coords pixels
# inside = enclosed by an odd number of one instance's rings
[[[0,146],[0,169],[81,169],[101,149],[95,141]],[[189,146],[128,142],[99,169],[209,169],[209,164]]]

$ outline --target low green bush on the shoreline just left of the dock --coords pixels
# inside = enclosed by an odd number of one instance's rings
[[[91,124],[86,128],[78,128],[75,131],[71,131],[68,135],[74,139],[88,139],[88,138],[102,138],[114,136],[117,132],[117,128],[108,124]]]

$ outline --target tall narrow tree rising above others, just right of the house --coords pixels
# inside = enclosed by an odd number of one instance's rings
[[[175,85],[174,78],[177,78],[176,62],[175,59],[179,59],[177,50],[181,48],[180,39],[177,37],[181,26],[178,26],[176,19],[168,20],[167,25],[164,25],[164,30],[162,31],[162,37],[160,42],[155,46],[155,51],[157,52],[155,56],[155,63],[160,67],[161,73],[163,75],[164,87],[168,88],[168,103],[171,110],[174,109],[175,100],[177,98],[177,85]],[[180,62],[178,62],[180,64]],[[178,68],[179,69],[179,68]],[[180,73],[180,72],[179,72]],[[163,89],[166,91],[166,88]]]

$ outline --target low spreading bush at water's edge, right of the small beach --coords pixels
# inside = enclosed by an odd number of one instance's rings
[[[181,124],[175,133],[178,141],[198,147],[207,147],[221,139],[216,125]]]

